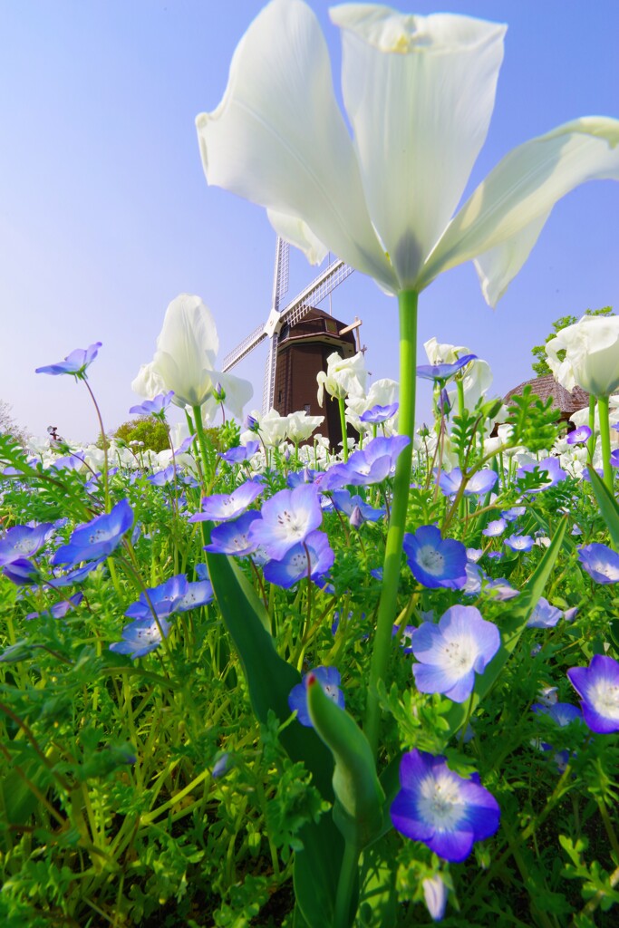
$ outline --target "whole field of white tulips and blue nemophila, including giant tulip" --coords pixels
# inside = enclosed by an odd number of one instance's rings
[[[555,202],[619,178],[619,122],[515,148],[458,210],[505,28],[331,16],[346,118],[312,10],[274,0],[200,153],[310,260],[397,298],[399,367],[329,356],[337,440],[303,411],[243,418],[251,385],[181,294],[129,410],[162,451],[106,434],[107,345],[36,368],[89,394],[99,439],[0,435],[9,928],[617,923],[619,317],[548,341],[589,394],[568,421],[528,386],[489,395],[474,345],[418,365],[417,316],[470,259],[494,305]]]

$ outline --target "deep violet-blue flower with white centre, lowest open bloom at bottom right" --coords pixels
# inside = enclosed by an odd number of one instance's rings
[[[471,780],[459,777],[443,756],[409,751],[400,762],[400,787],[391,806],[393,828],[445,860],[460,863],[476,841],[498,830],[495,797],[477,774]]]

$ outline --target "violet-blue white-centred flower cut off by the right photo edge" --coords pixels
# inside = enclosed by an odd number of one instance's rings
[[[601,735],[619,731],[619,664],[612,657],[595,654],[588,667],[571,667],[567,676],[582,698],[580,707],[588,728]]]

